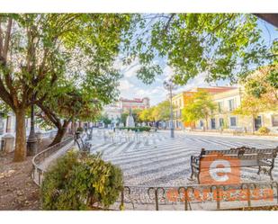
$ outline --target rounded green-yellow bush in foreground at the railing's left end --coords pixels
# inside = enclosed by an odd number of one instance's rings
[[[43,210],[107,209],[123,188],[121,169],[100,155],[75,151],[58,158],[44,175],[40,189]]]

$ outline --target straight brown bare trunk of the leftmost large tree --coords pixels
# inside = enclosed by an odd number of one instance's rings
[[[15,149],[14,162],[22,162],[26,159],[26,128],[25,128],[25,109],[19,109],[15,112],[16,128],[15,128]]]

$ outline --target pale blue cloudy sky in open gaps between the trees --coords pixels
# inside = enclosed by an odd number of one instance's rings
[[[271,43],[272,40],[278,38],[278,31],[273,25],[259,20],[259,27],[263,31],[263,38],[266,43]],[[152,85],[145,85],[136,77],[136,71],[139,68],[138,61],[134,61],[129,67],[121,66],[121,73],[123,77],[121,78],[119,90],[121,91],[121,97],[124,98],[143,98],[148,96],[151,105],[156,105],[164,100],[166,100],[166,89],[163,87],[163,82],[172,75],[171,67],[165,66],[163,74],[157,76],[155,82]],[[191,79],[187,85],[177,86],[174,93],[180,93],[184,90],[189,90],[193,87],[205,87],[205,86],[227,86],[229,85],[229,80],[221,80],[216,83],[206,83],[204,81],[204,74],[200,74],[195,78]]]

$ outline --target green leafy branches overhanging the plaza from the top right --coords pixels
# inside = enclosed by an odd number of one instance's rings
[[[137,76],[145,83],[163,72],[166,62],[176,84],[205,74],[207,81],[247,76],[272,63],[274,43],[265,42],[257,17],[240,13],[141,14],[130,32],[126,63],[137,59]]]

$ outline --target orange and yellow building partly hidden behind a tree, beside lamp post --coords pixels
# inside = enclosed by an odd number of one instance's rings
[[[208,91],[211,94],[219,94],[222,92],[229,91],[231,89],[235,89],[237,87],[227,87],[227,86],[211,86],[211,87],[195,87],[188,91],[184,91],[179,94],[175,94],[173,96],[173,105],[174,105],[174,127],[175,129],[184,129],[189,127],[194,127],[194,122],[184,122],[182,121],[182,111],[188,103],[188,100],[198,91],[204,90]]]

